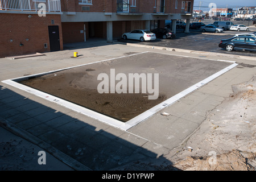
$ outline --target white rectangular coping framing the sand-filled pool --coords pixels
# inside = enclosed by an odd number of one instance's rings
[[[196,89],[199,89],[201,86],[207,84],[208,82],[214,80],[218,76],[221,76],[225,72],[228,72],[230,69],[232,69],[232,68],[234,68],[238,65],[235,61],[213,60],[213,59],[206,59],[206,58],[201,58],[201,57],[191,57],[191,56],[182,56],[182,55],[172,55],[170,53],[162,53],[162,54],[166,54],[166,55],[180,56],[180,57],[190,57],[190,58],[195,58],[195,59],[204,59],[204,60],[212,60],[212,61],[225,61],[225,62],[233,63],[233,64],[231,64],[228,67],[222,69],[221,71],[218,71],[217,73],[214,73],[213,75],[209,76],[208,78],[205,78],[204,80],[202,80],[200,82],[197,82],[195,85],[190,86],[189,88],[181,91],[180,93],[176,94],[175,96],[172,96],[171,98],[168,98],[166,101],[161,102],[160,104],[152,107],[151,109],[148,109],[147,111],[144,111],[142,114],[137,115],[136,117],[130,119],[127,122],[118,121],[117,119],[108,117],[104,114],[97,113],[96,111],[93,111],[93,110],[87,109],[85,107],[73,104],[72,102],[63,100],[59,97],[52,96],[51,94],[36,90],[34,88],[30,88],[29,86],[19,84],[18,82],[16,82],[17,80],[26,80],[26,78],[29,78],[29,77],[39,77],[39,76],[48,75],[48,74],[54,73],[54,72],[64,71],[66,69],[82,67],[84,65],[101,63],[101,62],[104,62],[104,61],[120,59],[122,57],[129,57],[129,56],[134,56],[134,55],[147,53],[147,52],[150,52],[150,51],[135,53],[135,54],[132,54],[132,55],[127,55],[127,56],[120,56],[120,57],[107,59],[107,60],[102,60],[102,61],[96,61],[94,63],[82,64],[82,65],[77,65],[77,66],[74,66],[74,67],[68,67],[68,68],[64,68],[64,69],[57,69],[55,71],[44,72],[44,73],[39,73],[39,74],[35,74],[35,75],[12,78],[12,79],[9,79],[9,80],[3,80],[2,82],[5,83],[5,84],[14,86],[15,88],[18,88],[20,90],[24,90],[28,93],[34,94],[35,96],[44,98],[45,100],[48,100],[50,102],[54,102],[54,103],[59,104],[61,106],[67,107],[68,109],[71,109],[71,110],[76,111],[78,113],[87,115],[90,118],[94,118],[94,119],[97,119],[98,121],[104,122],[104,123],[106,123],[108,125],[111,125],[113,127],[117,127],[118,129],[127,131],[131,127],[133,127],[135,125],[138,125],[138,123],[140,123],[140,122],[144,121],[145,119],[151,117],[152,115],[154,115],[158,111],[164,109],[165,107],[168,107],[168,106],[174,104],[176,101],[180,100],[180,98],[186,96],[189,93],[192,93]],[[156,53],[156,52],[154,52],[154,53]],[[157,52],[157,53],[159,53],[159,52]],[[14,81],[14,80],[16,80],[16,81]]]

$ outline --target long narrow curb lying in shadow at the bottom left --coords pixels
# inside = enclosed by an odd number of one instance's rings
[[[36,144],[37,146],[46,150],[49,154],[53,155],[55,158],[59,159],[64,164],[67,164],[69,167],[75,169],[76,171],[92,171],[92,169],[84,166],[77,160],[71,158],[70,156],[64,154],[63,152],[57,150],[55,147],[52,147],[50,144],[44,142],[43,140],[35,137],[34,135],[28,133],[27,131],[21,129],[20,127],[10,123],[6,119],[0,118],[0,126],[4,129],[28,140],[31,143]]]

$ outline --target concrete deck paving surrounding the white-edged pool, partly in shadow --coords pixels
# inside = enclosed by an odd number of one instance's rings
[[[83,56],[72,59],[73,51]],[[144,51],[148,51],[148,48],[107,44],[50,52],[42,57],[0,59],[1,81]],[[155,49],[150,51],[170,53]],[[183,52],[171,53],[191,56]],[[193,57],[202,58],[202,55],[193,54]],[[232,57],[216,58],[207,55],[204,58],[256,65],[253,60],[239,60]],[[49,150],[50,154],[74,169],[104,170],[137,160],[167,159],[170,157],[168,156],[170,151],[179,147],[200,126],[207,112],[232,94],[232,85],[248,81],[254,74],[254,68],[246,66],[233,68],[162,110],[170,115],[156,113],[127,131],[95,122],[95,119],[1,82],[1,123],[3,127],[16,131],[44,150]],[[172,163],[171,160],[167,161],[168,164]]]

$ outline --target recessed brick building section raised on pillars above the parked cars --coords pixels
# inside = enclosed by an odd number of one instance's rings
[[[192,1],[181,0],[66,0],[61,1],[63,42],[92,37],[120,38],[134,29],[164,27],[164,20],[189,19]],[[188,31],[188,30],[187,30]],[[70,36],[72,35],[72,36]]]

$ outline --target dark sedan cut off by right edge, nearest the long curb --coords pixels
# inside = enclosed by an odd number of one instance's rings
[[[235,36],[230,39],[221,40],[218,47],[225,48],[227,51],[246,50],[256,51],[256,38],[249,36]]]

